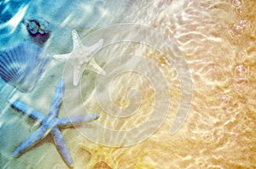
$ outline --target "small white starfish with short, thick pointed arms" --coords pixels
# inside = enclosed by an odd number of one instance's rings
[[[73,85],[77,86],[79,84],[80,78],[86,69],[105,75],[106,72],[97,65],[93,57],[90,57],[96,50],[102,48],[103,39],[90,47],[84,47],[77,31],[72,31],[72,37],[73,51],[70,54],[54,55],[54,58],[61,61],[68,60],[73,65]]]

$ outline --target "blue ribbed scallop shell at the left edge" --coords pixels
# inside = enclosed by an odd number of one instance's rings
[[[43,75],[50,58],[43,48],[32,43],[21,43],[0,54],[0,76],[4,82],[30,92]]]

